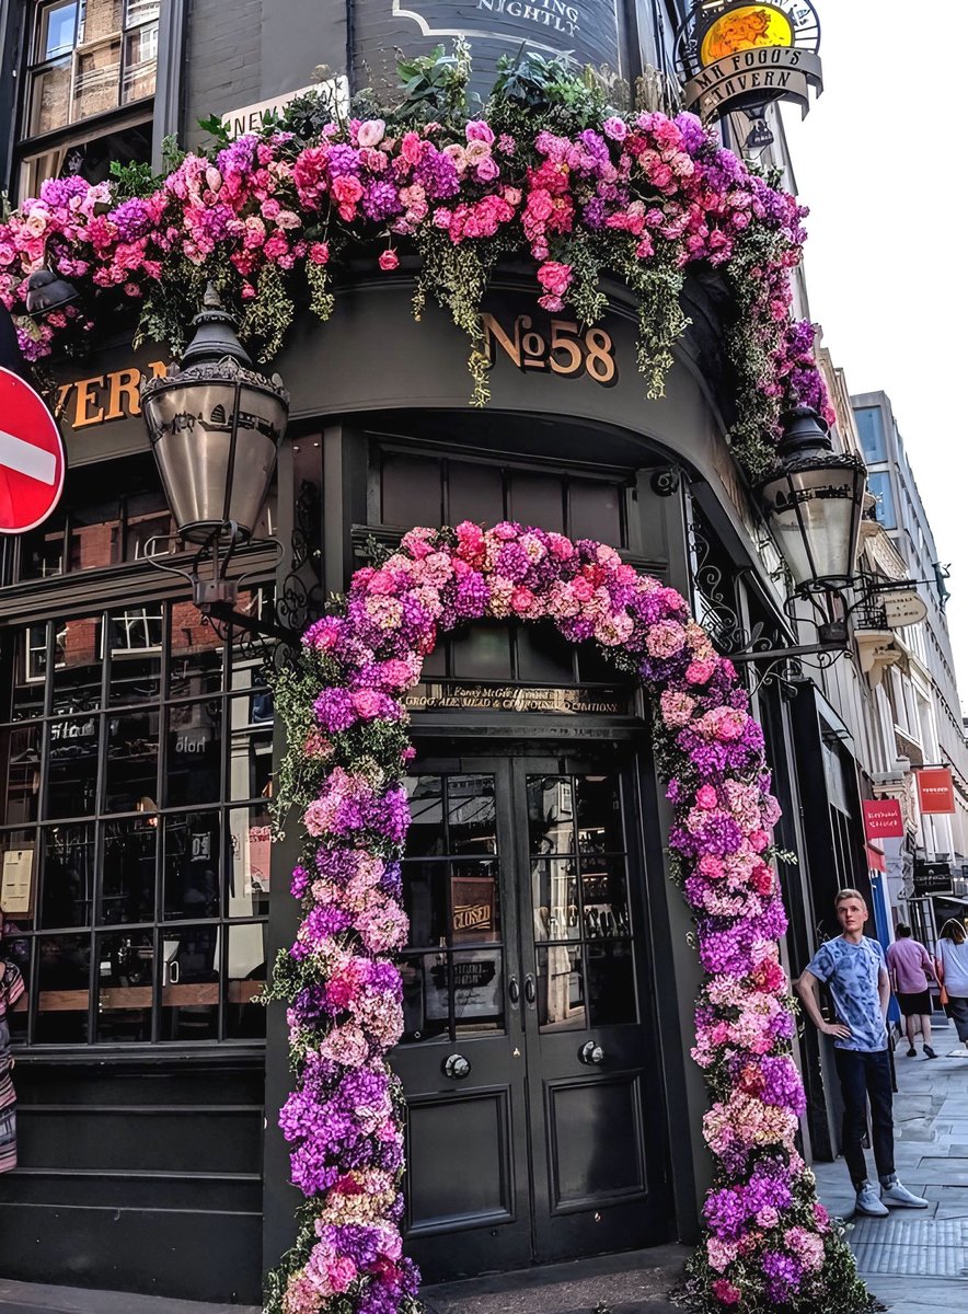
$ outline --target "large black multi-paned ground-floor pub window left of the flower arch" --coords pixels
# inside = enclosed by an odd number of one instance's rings
[[[273,707],[259,654],[181,600],[3,641],[0,903],[29,1039],[260,1039]]]

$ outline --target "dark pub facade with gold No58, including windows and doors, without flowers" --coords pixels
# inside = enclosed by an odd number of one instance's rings
[[[14,196],[63,170],[96,181],[112,158],[158,162],[167,133],[192,143],[205,114],[263,113],[317,64],[380,88],[394,46],[426,53],[457,30],[482,74],[528,39],[627,80],[646,64],[674,76],[674,3],[451,11],[7,0],[3,59],[22,74],[3,143]],[[466,342],[435,307],[414,322],[412,275],[405,255],[351,276],[331,319],[305,315],[273,360],[289,428],[256,537],[282,557],[238,556],[243,614],[310,620],[374,540],[507,518],[613,545],[684,593],[724,648],[754,629],[795,641],[780,557],[725,440],[715,281],[687,283],[691,328],[666,396],[646,401],[628,288],[605,280],[608,311],[586,330],[500,265],[485,301],[491,399],[472,410]],[[4,544],[0,903],[30,988],[14,1017],[20,1168],[0,1181],[0,1272],[244,1303],[298,1202],[276,1126],[285,1010],[257,1001],[297,925],[298,825],[271,842],[272,654],[152,560],[171,512],[139,388],[168,356],[131,339],[102,325],[83,363],[54,363],[64,497]],[[779,842],[801,854],[781,872],[799,970],[820,915],[795,704],[753,668],[750,685]],[[642,692],[540,624],[481,622],[427,658],[408,711],[411,929],[393,1054],[407,1252],[435,1281],[695,1239],[699,967],[667,879]],[[803,1135],[809,1151],[806,1122]]]

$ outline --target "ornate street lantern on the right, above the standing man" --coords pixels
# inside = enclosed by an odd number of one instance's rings
[[[848,587],[860,535],[867,469],[839,455],[809,406],[788,418],[780,463],[759,485],[763,512],[797,591]]]

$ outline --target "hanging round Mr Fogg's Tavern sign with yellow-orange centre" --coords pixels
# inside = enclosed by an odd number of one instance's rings
[[[810,87],[824,89],[818,50],[809,0],[695,0],[675,45],[686,109],[707,124],[745,110],[754,121],[747,145],[766,145],[768,104],[792,100],[806,114]]]

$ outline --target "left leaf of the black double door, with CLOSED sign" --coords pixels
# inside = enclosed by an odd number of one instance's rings
[[[407,1252],[427,1281],[531,1261],[510,770],[423,759],[403,892]],[[454,1234],[460,1240],[454,1242]]]

